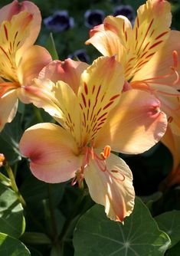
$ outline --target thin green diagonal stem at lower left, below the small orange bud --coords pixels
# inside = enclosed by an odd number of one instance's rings
[[[15,182],[15,176],[14,173],[11,170],[11,166],[9,166],[8,162],[5,163],[5,169],[8,172],[8,177],[11,180],[11,188],[15,191],[16,195],[18,196],[18,200],[19,202],[21,202],[21,205],[23,206],[23,208],[26,208],[26,202],[25,199],[23,199],[21,193],[18,190],[18,186],[16,185]]]

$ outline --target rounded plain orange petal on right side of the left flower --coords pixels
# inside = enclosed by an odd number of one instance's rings
[[[38,45],[33,45],[26,50],[18,65],[18,80],[20,84],[29,85],[31,80],[38,78],[41,69],[52,61],[48,51]]]

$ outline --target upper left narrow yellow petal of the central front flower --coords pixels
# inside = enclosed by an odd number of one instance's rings
[[[21,97],[36,107],[44,108],[74,136],[78,144],[81,143],[80,106],[77,95],[68,84],[63,81],[54,84],[51,80],[35,79],[34,85],[21,88]]]

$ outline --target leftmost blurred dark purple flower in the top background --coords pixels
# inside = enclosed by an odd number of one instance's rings
[[[53,15],[44,18],[44,25],[54,32],[67,31],[74,27],[74,18],[69,17],[68,11],[55,11]]]

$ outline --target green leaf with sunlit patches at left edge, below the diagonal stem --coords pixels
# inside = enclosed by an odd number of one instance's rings
[[[0,183],[0,232],[15,238],[25,231],[23,208],[15,192]]]

